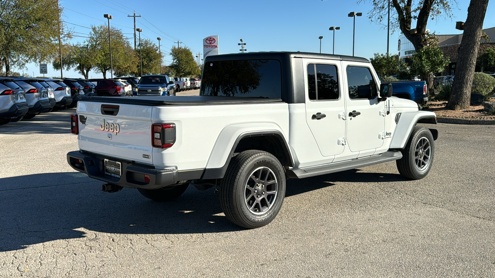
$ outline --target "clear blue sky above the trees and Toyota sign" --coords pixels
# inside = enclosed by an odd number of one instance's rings
[[[414,0],[417,2],[417,0]],[[143,29],[142,38],[156,41],[161,37],[161,48],[169,51],[177,38],[189,46],[194,53],[202,54],[202,39],[219,35],[220,53],[239,52],[239,39],[247,43],[248,51],[309,51],[319,52],[319,36],[323,36],[322,52],[332,53],[332,31],[330,26],[339,26],[335,34],[335,53],[352,55],[352,18],[351,11],[362,12],[356,18],[355,55],[370,58],[373,53],[387,51],[387,31],[380,25],[370,22],[368,12],[370,3],[357,5],[355,0],[60,0],[66,8],[62,20],[90,27],[106,24],[104,13],[111,14],[111,24],[121,28],[123,33],[133,33],[134,23],[127,14],[141,14],[146,18],[137,18],[136,27]],[[118,4],[117,4],[118,3]],[[120,5],[119,5],[120,4]],[[459,34],[455,30],[455,21],[465,21],[469,0],[458,0],[453,8],[454,18],[433,20],[428,29],[437,34]],[[125,7],[125,8],[124,8]],[[495,5],[488,5],[484,28],[495,27]],[[84,15],[83,15],[84,14]],[[154,28],[156,26],[158,29]],[[415,26],[415,24],[413,24]],[[89,29],[67,24],[75,35],[87,36]],[[166,36],[164,33],[170,35]],[[396,31],[390,37],[390,52],[397,52]],[[127,35],[133,37],[132,34]],[[73,43],[85,38],[74,37]],[[134,39],[130,39],[134,44]],[[169,64],[172,59],[166,55]],[[29,64],[22,70],[39,76],[39,65]],[[59,76],[48,65],[48,76]],[[64,71],[65,77],[82,77],[75,71]],[[100,78],[101,73],[90,72],[90,78]]]

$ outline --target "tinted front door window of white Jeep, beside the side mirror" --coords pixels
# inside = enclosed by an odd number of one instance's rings
[[[376,83],[367,67],[348,66],[347,86],[350,99],[371,99],[377,96]]]

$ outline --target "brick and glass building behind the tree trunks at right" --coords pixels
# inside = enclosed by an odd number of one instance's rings
[[[495,42],[495,27],[483,29],[483,31],[488,35],[491,41]],[[455,75],[455,65],[457,64],[457,57],[459,52],[459,47],[462,41],[463,34],[457,35],[435,35],[438,38],[438,46],[444,54],[450,58],[450,63],[442,72],[442,75]],[[478,50],[478,56],[481,56],[487,48],[495,48],[494,42],[482,42]],[[404,34],[400,34],[398,40],[398,56],[405,62],[409,62],[409,57],[416,53],[412,43],[406,39]],[[480,69],[476,69],[480,71]]]

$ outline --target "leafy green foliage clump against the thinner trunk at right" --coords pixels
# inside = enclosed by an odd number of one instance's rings
[[[412,61],[411,73],[421,76],[442,72],[450,63],[450,59],[445,57],[444,52],[436,45],[419,49],[410,59]]]

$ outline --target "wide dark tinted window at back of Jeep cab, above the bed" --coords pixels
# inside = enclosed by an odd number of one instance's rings
[[[282,69],[278,60],[207,62],[200,95],[282,97]]]

